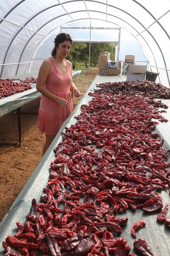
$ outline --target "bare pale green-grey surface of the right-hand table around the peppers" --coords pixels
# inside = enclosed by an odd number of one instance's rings
[[[62,142],[61,132],[65,131],[65,127],[70,127],[71,124],[76,123],[75,116],[80,114],[80,106],[82,104],[88,104],[92,99],[88,93],[96,87],[98,82],[122,82],[126,79],[126,76],[100,76],[97,75],[91,86],[87,89],[86,93],[82,97],[81,101],[75,107],[74,111],[67,118],[60,128],[58,134],[53,140],[52,144],[44,154],[44,157],[41,159],[37,165],[35,171],[32,173],[31,177],[25,184],[24,188],[17,196],[15,202],[12,204],[9,212],[5,215],[3,221],[0,223],[0,255],[4,255],[2,241],[5,240],[7,235],[13,235],[16,233],[16,222],[19,221],[21,224],[25,222],[25,216],[28,214],[31,201],[35,198],[39,202],[40,195],[42,195],[43,188],[47,186],[47,181],[49,178],[49,166],[52,160],[55,159],[55,154],[53,152],[54,147],[56,147],[60,142]],[[170,117],[170,100],[163,100],[169,109],[167,113],[163,113],[167,119]],[[165,148],[170,148],[170,122],[160,123],[157,125],[157,128],[154,132],[159,132],[161,138],[165,140]],[[168,159],[170,161],[170,157]],[[43,178],[42,178],[43,177]],[[161,193],[163,198],[163,205],[170,203],[169,192],[163,190]],[[169,214],[169,212],[168,212]],[[130,230],[131,226],[141,220],[146,222],[146,227],[138,230],[137,237],[145,239],[150,247],[152,248],[155,256],[169,256],[170,255],[170,232],[165,225],[157,222],[157,213],[146,214],[141,209],[132,212],[127,210],[121,217],[128,217],[127,226],[123,228],[122,237],[126,238],[129,246],[131,247],[131,253],[135,253],[133,250],[133,242],[135,239],[131,236]],[[119,217],[119,215],[118,215]]]

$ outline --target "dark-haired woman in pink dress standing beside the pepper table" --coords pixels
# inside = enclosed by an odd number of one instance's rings
[[[72,45],[69,34],[55,38],[52,57],[44,60],[38,74],[36,89],[42,94],[39,108],[39,130],[46,133],[43,155],[73,110],[70,91],[80,97],[72,82],[71,62],[66,60]]]

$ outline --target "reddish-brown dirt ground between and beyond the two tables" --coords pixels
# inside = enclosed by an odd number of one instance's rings
[[[98,70],[90,72],[90,83]],[[81,97],[88,88],[88,72],[74,78]],[[73,107],[81,97],[73,98]],[[45,135],[39,132],[38,110],[40,98],[21,107],[22,146],[0,146],[0,221],[9,211],[15,198],[41,160]],[[33,112],[33,114],[24,114]],[[17,114],[10,112],[0,117],[0,142],[18,141]]]

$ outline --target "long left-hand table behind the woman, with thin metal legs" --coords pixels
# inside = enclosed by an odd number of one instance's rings
[[[82,71],[73,71],[72,77],[75,78],[78,76]],[[25,78],[31,78],[31,77],[37,77],[37,74],[35,73],[28,73],[24,75],[17,75],[17,76],[10,76],[8,78],[19,78],[19,79],[25,79]],[[7,79],[7,78],[5,78]],[[30,83],[32,88],[23,91],[21,93],[15,93],[13,95],[10,95],[8,97],[3,97],[0,99],[0,117],[4,116],[5,114],[11,112],[12,110],[17,109],[17,115],[18,115],[18,130],[19,130],[19,141],[14,143],[0,143],[0,145],[17,145],[21,146],[21,116],[20,116],[20,107],[27,104],[30,101],[33,101],[34,99],[41,96],[41,93],[36,90],[36,84]]]

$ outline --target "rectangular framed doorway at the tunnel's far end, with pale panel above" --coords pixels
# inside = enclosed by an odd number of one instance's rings
[[[74,61],[70,59],[70,61],[73,64],[72,66],[73,70],[81,69],[81,65],[82,65],[82,68],[84,69],[84,71],[82,72],[82,75],[83,74],[88,75],[88,86],[90,86],[92,82],[92,78],[95,78],[95,76],[98,74],[97,62],[99,61],[99,53],[100,53],[99,49],[105,49],[104,52],[108,52],[107,44],[111,46],[117,45],[118,50],[116,51],[116,56],[115,56],[115,47],[111,47],[113,49],[113,51],[111,52],[111,57],[114,58],[114,60],[112,61],[119,60],[120,27],[92,27],[92,26],[63,27],[62,26],[60,31],[61,33],[71,34],[74,44],[77,44],[77,45],[82,44],[82,45],[79,45],[79,49],[81,48],[81,46],[82,48],[84,47],[84,49],[88,48],[88,64],[85,61],[83,61],[84,65],[80,62],[74,63]],[[101,37],[101,33],[103,34],[102,37]],[[101,40],[101,38],[103,39]],[[98,49],[95,49],[96,54],[98,54],[98,56],[94,55],[95,44],[96,46],[98,46]],[[106,47],[99,47],[99,44],[105,44]],[[73,47],[73,50],[74,50],[74,47]],[[75,50],[75,54],[76,54],[76,50]],[[91,59],[91,56],[95,56],[95,63],[94,63],[94,60]],[[86,57],[87,57],[87,49],[86,49]],[[96,59],[98,59],[98,61],[96,61]]]

